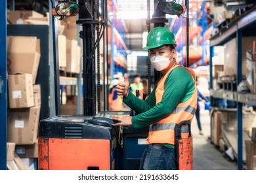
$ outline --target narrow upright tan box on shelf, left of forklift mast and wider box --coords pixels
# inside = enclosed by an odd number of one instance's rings
[[[58,66],[66,67],[66,36],[58,35]]]

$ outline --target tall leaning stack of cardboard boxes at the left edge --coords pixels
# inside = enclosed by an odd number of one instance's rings
[[[38,156],[37,129],[41,110],[41,86],[35,84],[35,81],[41,54],[40,40],[37,37],[8,37],[7,40],[7,140],[15,144],[14,160],[17,162],[9,162],[9,168],[16,169],[14,165],[22,165],[19,158]]]

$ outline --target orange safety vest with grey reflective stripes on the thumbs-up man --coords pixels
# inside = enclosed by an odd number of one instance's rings
[[[177,65],[170,69],[168,73],[166,73],[158,82],[158,88],[156,88],[156,104],[158,104],[163,97],[163,93],[165,92],[165,80],[168,74],[175,69],[176,67],[182,67],[181,65]],[[184,67],[187,69],[196,79],[196,75],[194,71],[190,68]],[[169,114],[169,116],[163,118],[159,122],[150,125],[149,133],[148,133],[148,144],[160,143],[160,144],[175,144],[175,125],[179,124],[182,121],[190,120],[194,117],[196,112],[196,100],[197,100],[197,92],[196,92],[196,83],[195,83],[195,90],[187,101],[184,103],[179,103],[177,107]],[[188,135],[188,126],[181,128],[181,133]],[[184,136],[182,137],[184,138]]]

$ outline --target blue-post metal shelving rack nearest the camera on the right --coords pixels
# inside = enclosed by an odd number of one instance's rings
[[[253,93],[239,93],[226,90],[213,90],[213,49],[214,46],[221,46],[233,38],[236,38],[237,44],[237,85],[242,82],[242,38],[255,36],[256,30],[256,7],[251,8],[241,16],[234,18],[226,28],[219,30],[219,32],[210,39],[210,92],[211,104],[217,98],[235,101],[237,103],[237,145],[238,145],[238,169],[243,169],[243,121],[242,121],[242,105],[256,105],[256,95]]]

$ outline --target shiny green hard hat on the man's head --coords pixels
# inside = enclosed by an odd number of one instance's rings
[[[174,46],[177,46],[175,36],[165,27],[155,27],[148,33],[146,47],[143,49],[158,48],[164,44],[173,44]]]

